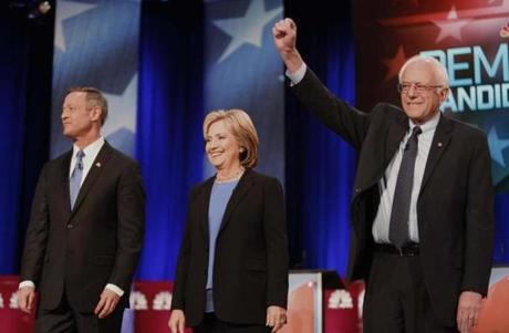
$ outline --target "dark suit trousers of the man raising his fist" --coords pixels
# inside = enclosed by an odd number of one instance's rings
[[[363,308],[364,333],[457,332],[437,321],[418,256],[375,252]]]

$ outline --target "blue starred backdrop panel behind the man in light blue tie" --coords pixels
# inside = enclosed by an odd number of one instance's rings
[[[95,86],[108,101],[106,141],[133,155],[136,128],[139,1],[56,2],[51,157],[71,147],[62,136],[63,96]]]

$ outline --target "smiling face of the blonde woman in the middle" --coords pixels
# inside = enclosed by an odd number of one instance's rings
[[[240,145],[224,121],[208,127],[205,152],[216,169],[240,168]]]

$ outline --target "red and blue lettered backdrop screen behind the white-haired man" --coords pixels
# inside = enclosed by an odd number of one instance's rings
[[[509,252],[509,1],[355,2],[357,104],[371,110],[398,102],[398,71],[415,54],[447,69],[450,94],[443,111],[488,135],[496,198],[495,263]],[[365,10],[370,8],[370,10]]]

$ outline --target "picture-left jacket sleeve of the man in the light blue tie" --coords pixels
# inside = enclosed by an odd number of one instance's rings
[[[20,281],[39,285],[50,229],[48,209],[48,164],[44,165],[35,188],[21,260]]]

